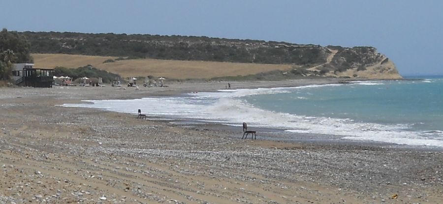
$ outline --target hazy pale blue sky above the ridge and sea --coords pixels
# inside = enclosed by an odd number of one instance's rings
[[[373,46],[402,75],[443,75],[442,0],[1,0],[1,7],[8,30]]]

